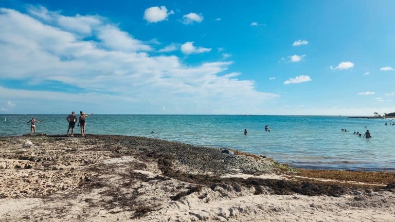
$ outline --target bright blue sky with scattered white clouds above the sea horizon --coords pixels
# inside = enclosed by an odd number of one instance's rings
[[[0,114],[395,112],[393,9],[0,0]]]

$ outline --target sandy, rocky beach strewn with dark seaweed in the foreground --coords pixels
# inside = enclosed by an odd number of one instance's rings
[[[226,147],[224,147],[225,149]],[[0,138],[0,221],[394,221],[395,173],[164,140]]]

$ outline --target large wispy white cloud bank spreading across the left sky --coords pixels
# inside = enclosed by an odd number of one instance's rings
[[[63,16],[60,12],[42,9],[37,14],[0,9],[0,81],[57,82],[78,87],[82,93],[3,85],[3,109],[10,110],[6,106],[10,101],[8,105],[25,104],[13,107],[13,112],[59,113],[83,99],[97,113],[161,113],[166,106],[168,113],[232,114],[264,110],[265,101],[279,97],[256,90],[252,80],[237,79],[240,73],[227,71],[232,62],[190,65],[173,54],[151,55],[150,45],[106,18],[76,15],[76,23],[83,26],[66,27],[58,22]],[[97,22],[81,17],[97,18]],[[89,38],[81,38],[81,33]],[[211,49],[187,42],[183,50],[201,53]],[[34,105],[37,103],[42,105]]]

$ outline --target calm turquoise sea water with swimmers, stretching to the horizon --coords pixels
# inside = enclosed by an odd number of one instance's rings
[[[34,117],[42,120],[37,124],[39,134],[67,132],[67,115]],[[31,115],[0,115],[0,135],[30,133],[26,121],[31,118]],[[86,122],[86,134],[154,137],[231,148],[262,154],[293,167],[395,170],[395,126],[389,124],[390,120],[327,116],[93,115]],[[272,132],[265,132],[265,125]],[[353,134],[359,131],[363,135],[365,126],[372,138]],[[244,128],[247,136],[243,134]],[[342,132],[342,128],[350,132]],[[79,127],[76,130],[79,133]]]

